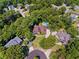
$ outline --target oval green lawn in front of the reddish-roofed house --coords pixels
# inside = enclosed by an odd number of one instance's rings
[[[50,49],[55,45],[56,41],[57,41],[56,37],[49,36],[48,38],[42,38],[39,44],[44,49]]]

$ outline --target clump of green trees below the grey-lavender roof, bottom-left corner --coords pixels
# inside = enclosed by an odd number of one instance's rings
[[[9,48],[0,47],[0,59],[23,59],[28,53],[27,47],[23,48],[20,45],[11,46]]]

